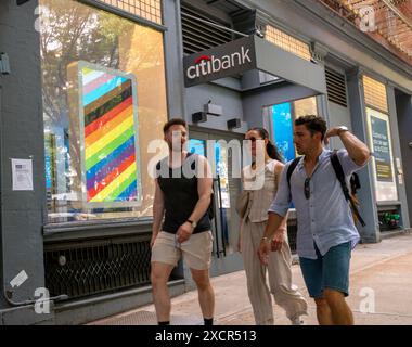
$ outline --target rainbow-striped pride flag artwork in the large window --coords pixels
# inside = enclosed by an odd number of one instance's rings
[[[87,62],[77,66],[83,203],[140,205],[136,77]]]

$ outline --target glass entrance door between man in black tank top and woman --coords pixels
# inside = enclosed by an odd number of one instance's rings
[[[237,252],[241,220],[234,208],[242,181],[239,172],[234,172],[239,167],[233,162],[233,156],[237,154],[224,143],[230,143],[232,140],[242,143],[244,136],[195,127],[190,128],[189,136],[189,151],[208,157],[215,174],[215,218],[211,220],[214,249],[210,275],[242,270],[243,261]]]

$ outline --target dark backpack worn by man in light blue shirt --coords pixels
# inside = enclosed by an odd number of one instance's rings
[[[291,190],[291,177],[292,177],[292,174],[295,170],[297,164],[299,163],[299,160],[300,160],[300,157],[295,158],[287,168],[287,184],[289,187],[289,190]],[[342,164],[339,162],[339,158],[337,156],[336,150],[332,152],[331,163],[332,163],[332,167],[335,171],[336,178],[340,183],[345,198],[347,202],[350,203],[350,209],[352,211],[355,221],[359,221],[362,227],[366,226],[363,218],[359,214],[359,210],[358,210],[359,201],[356,196],[357,190],[361,188],[360,181],[359,181],[359,176],[355,172],[351,175],[351,177],[350,177],[350,192],[349,192],[349,189],[348,189],[348,187],[346,184],[346,180],[345,180],[344,169],[343,169]]]

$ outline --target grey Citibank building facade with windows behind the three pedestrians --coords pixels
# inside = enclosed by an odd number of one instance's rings
[[[411,228],[412,55],[334,1],[17,2],[0,3],[0,324],[80,324],[151,303],[150,168],[171,117],[214,164],[213,275],[242,269],[233,146],[250,127],[292,159],[295,117],[348,126],[374,153],[360,171],[362,242]],[[235,62],[242,39],[252,67],[189,87],[183,60]],[[184,264],[169,286],[193,287]],[[39,311],[44,288],[52,301]]]

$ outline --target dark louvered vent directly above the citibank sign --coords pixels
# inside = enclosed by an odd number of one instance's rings
[[[196,21],[192,16],[229,27],[226,24],[218,23],[206,15],[199,14],[198,11],[188,5],[181,4],[184,54],[201,52],[232,40],[232,34],[230,31],[220,29],[205,22]]]

